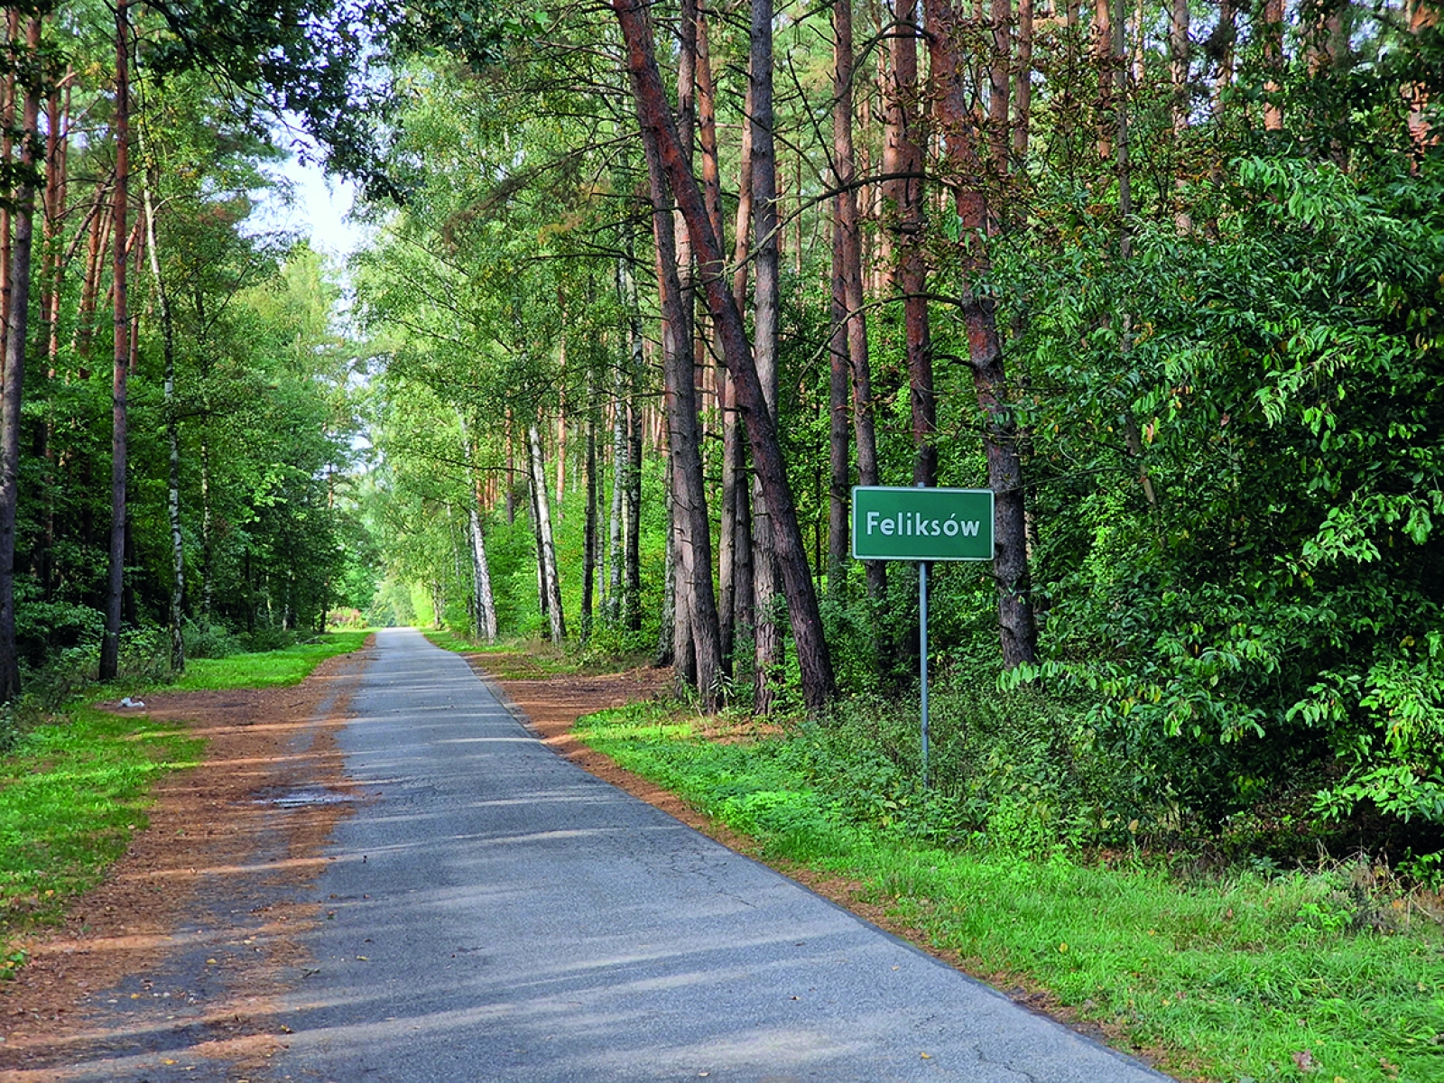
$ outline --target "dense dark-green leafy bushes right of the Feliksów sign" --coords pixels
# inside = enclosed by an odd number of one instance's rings
[[[1001,270],[1058,390],[1025,406],[1050,660],[1012,680],[1087,689],[1141,784],[1209,816],[1321,758],[1333,813],[1444,814],[1444,234],[1417,196],[1245,157],[1219,235],[1141,225],[1126,283],[1086,231]]]

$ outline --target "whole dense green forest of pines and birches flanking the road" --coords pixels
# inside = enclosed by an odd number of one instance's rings
[[[851,487],[991,488],[969,757],[1438,861],[1432,6],[7,12],[0,699],[370,619],[826,725],[920,661]],[[345,267],[254,224],[300,133]]]

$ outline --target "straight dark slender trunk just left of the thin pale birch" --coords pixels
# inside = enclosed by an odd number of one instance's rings
[[[130,6],[116,4],[116,196],[111,215],[116,243],[111,263],[116,360],[111,378],[110,575],[105,589],[105,635],[100,650],[100,679],[114,680],[120,664],[120,606],[126,579],[126,422],[130,377],[130,310],[126,306],[126,211],[130,189]]]

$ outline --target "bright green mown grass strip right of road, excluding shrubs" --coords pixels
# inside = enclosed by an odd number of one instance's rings
[[[858,816],[800,735],[719,745],[638,705],[583,719],[592,748],[760,840],[864,882],[976,973],[1041,986],[1186,1077],[1444,1080],[1444,936],[1378,871],[1181,879],[1132,855],[943,849]],[[1017,825],[1019,833],[1028,825]],[[1027,849],[1027,848],[1025,848]]]

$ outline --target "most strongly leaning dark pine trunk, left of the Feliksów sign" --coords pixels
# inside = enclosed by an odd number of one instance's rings
[[[747,423],[754,468],[761,478],[773,516],[773,542],[783,570],[793,640],[801,669],[803,699],[812,710],[822,710],[835,693],[832,658],[822,635],[817,595],[807,567],[797,510],[787,484],[787,469],[777,443],[777,429],[752,361],[742,315],[723,279],[721,244],[708,221],[696,178],[682,157],[644,9],[634,0],[614,0],[614,12],[627,46],[627,66],[643,139],[656,146],[667,183],[686,217],[702,266],[700,277],[706,289],[708,310],[716,326],[728,371],[736,383],[738,407]]]

